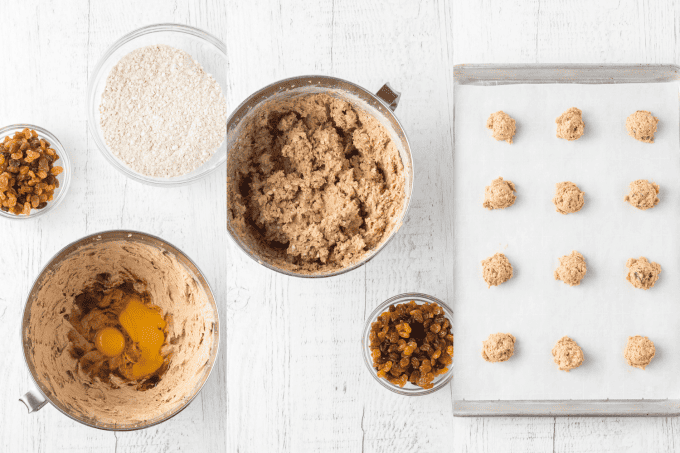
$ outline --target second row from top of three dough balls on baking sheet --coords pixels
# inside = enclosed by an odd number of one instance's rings
[[[556,184],[557,190],[553,203],[555,209],[560,214],[571,214],[578,212],[585,204],[585,192],[581,191],[576,184],[571,181]],[[659,185],[649,182],[646,179],[638,179],[630,183],[630,191],[623,200],[627,201],[640,210],[653,208],[659,203]],[[484,189],[484,202],[482,206],[486,209],[505,209],[517,200],[516,189],[512,181],[504,180],[502,177],[491,181],[491,185]]]

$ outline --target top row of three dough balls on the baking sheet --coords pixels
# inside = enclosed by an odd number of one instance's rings
[[[557,123],[557,138],[565,140],[578,140],[583,136],[585,123],[583,122],[583,112],[572,107],[561,114],[555,120]],[[647,110],[638,110],[626,118],[626,130],[628,135],[635,140],[644,143],[654,143],[654,134],[659,119]],[[486,127],[491,129],[491,135],[496,140],[503,140],[512,144],[512,137],[515,136],[515,120],[502,110],[492,113],[486,120]]]

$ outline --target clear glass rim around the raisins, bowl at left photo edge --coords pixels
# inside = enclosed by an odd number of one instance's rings
[[[31,209],[31,213],[29,215],[11,214],[9,212],[0,210],[0,217],[5,219],[27,220],[35,219],[36,217],[40,217],[42,215],[47,214],[52,209],[56,208],[59,205],[59,203],[61,203],[61,201],[64,199],[64,197],[66,197],[68,188],[71,185],[71,172],[72,172],[71,159],[68,157],[68,153],[61,145],[59,140],[57,140],[57,137],[55,137],[47,129],[43,129],[42,127],[35,126],[33,124],[13,124],[11,126],[6,126],[0,129],[0,141],[4,140],[6,136],[9,135],[11,137],[14,135],[15,132],[21,132],[26,128],[36,131],[38,133],[38,137],[44,138],[45,140],[50,142],[51,148],[54,149],[59,155],[59,159],[54,162],[54,166],[62,167],[64,171],[57,176],[57,180],[59,181],[59,187],[57,187],[54,190],[54,198],[52,201],[47,202],[47,206],[45,206],[43,209]]]

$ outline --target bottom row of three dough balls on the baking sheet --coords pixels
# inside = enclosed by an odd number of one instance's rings
[[[482,357],[487,362],[505,362],[515,353],[515,337],[509,333],[493,333],[482,343]],[[583,350],[569,337],[562,337],[552,349],[553,360],[562,371],[570,371],[583,364]],[[644,370],[656,355],[654,342],[647,337],[628,337],[623,357],[628,365]]]

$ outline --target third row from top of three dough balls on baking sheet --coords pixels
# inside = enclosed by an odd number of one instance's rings
[[[626,280],[633,287],[644,290],[654,287],[661,273],[661,266],[649,261],[644,256],[638,259],[630,258],[626,262],[626,267],[628,268]],[[585,258],[574,250],[570,255],[564,255],[560,258],[560,265],[554,274],[555,280],[562,280],[569,286],[577,286],[581,284],[587,270]],[[494,256],[482,260],[482,277],[489,288],[510,280],[512,278],[512,264],[510,264],[508,257],[502,253],[496,253]]]

